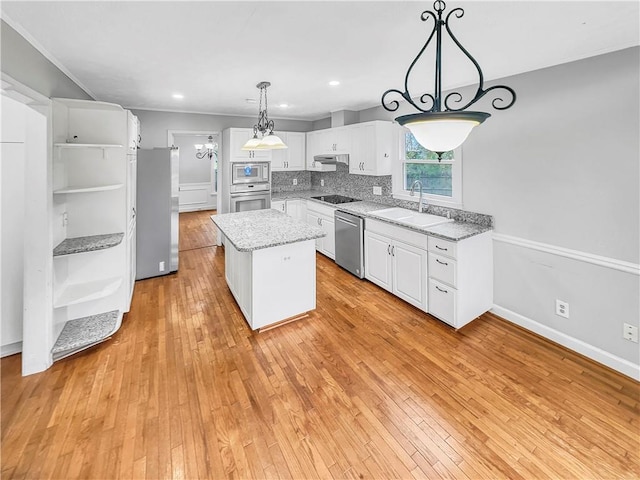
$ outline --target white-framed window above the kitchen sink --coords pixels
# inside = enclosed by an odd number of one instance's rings
[[[438,160],[435,152],[420,145],[410,132],[404,136],[400,164],[393,172],[394,197],[415,200],[409,192],[416,180],[422,183],[423,195],[428,202],[461,206],[462,156],[461,149],[445,152]]]

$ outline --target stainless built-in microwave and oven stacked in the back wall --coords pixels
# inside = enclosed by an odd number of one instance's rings
[[[229,188],[230,212],[271,208],[269,162],[234,162]]]

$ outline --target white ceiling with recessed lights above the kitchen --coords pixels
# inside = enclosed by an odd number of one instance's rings
[[[316,120],[380,105],[402,90],[426,41],[415,1],[2,1],[2,16],[97,100],[127,108],[256,115],[270,81],[273,118]],[[485,80],[640,43],[640,2],[465,1],[451,28]],[[446,13],[445,12],[445,13]],[[477,83],[445,44],[444,88]],[[428,57],[427,57],[428,58]],[[420,62],[414,95],[433,89]],[[328,86],[330,80],[341,82]],[[182,93],[183,100],[172,98]],[[288,103],[287,109],[277,107]]]

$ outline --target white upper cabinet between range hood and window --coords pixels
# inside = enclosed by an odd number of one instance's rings
[[[348,131],[349,173],[391,175],[391,166],[398,159],[398,128],[391,122],[374,121],[349,125]]]

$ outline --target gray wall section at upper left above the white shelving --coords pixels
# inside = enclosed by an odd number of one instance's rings
[[[46,97],[93,100],[18,32],[0,20],[2,72]]]

